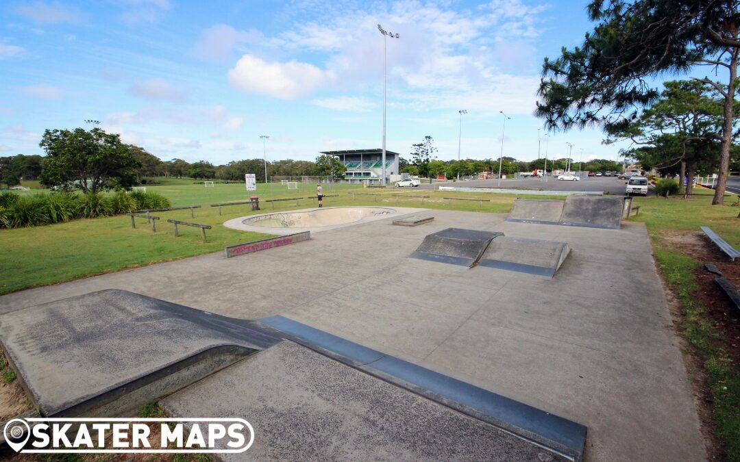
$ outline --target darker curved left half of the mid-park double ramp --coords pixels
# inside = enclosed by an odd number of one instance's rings
[[[410,257],[470,267],[497,236],[502,236],[502,233],[447,228],[428,234]]]

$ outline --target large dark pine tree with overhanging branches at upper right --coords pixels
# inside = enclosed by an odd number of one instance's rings
[[[580,47],[545,58],[536,115],[548,129],[601,125],[624,132],[659,92],[649,79],[699,65],[727,70],[725,84],[699,79],[724,97],[719,178],[721,204],[730,160],[740,50],[740,0],[593,0],[597,21]]]

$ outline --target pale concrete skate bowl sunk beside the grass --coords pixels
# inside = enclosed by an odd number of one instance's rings
[[[255,231],[269,234],[289,234],[296,231],[325,231],[356,225],[363,222],[383,220],[420,208],[403,207],[326,207],[303,210],[272,212],[269,214],[239,217],[224,222],[226,228]]]

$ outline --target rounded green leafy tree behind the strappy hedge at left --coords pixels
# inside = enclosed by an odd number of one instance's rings
[[[130,188],[141,163],[118,134],[94,128],[73,131],[44,131],[41,148],[47,155],[42,161],[41,184],[61,189],[98,192],[104,189]]]

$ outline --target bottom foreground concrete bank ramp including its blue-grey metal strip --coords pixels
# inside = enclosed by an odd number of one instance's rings
[[[285,342],[161,401],[173,416],[246,416],[250,460],[582,458],[576,422],[283,316],[258,322]]]

